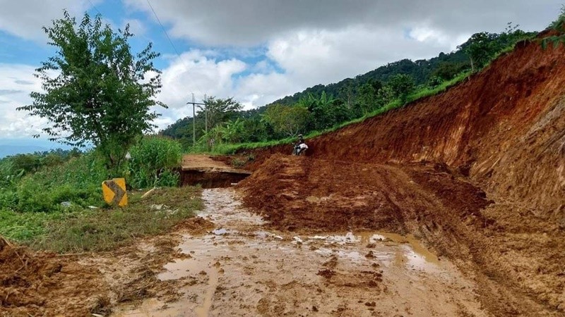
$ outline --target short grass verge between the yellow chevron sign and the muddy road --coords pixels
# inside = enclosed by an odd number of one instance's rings
[[[167,187],[145,199],[141,199],[141,194],[143,192],[131,193],[129,206],[122,209],[73,209],[52,213],[0,211],[0,235],[32,249],[105,251],[135,237],[166,232],[202,208],[199,187]]]

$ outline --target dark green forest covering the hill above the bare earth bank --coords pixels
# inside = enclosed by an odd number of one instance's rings
[[[220,144],[268,142],[337,128],[415,99],[436,94],[489,65],[537,32],[509,23],[504,32],[472,35],[448,54],[428,60],[403,59],[329,85],[316,85],[251,110],[233,98],[209,97],[193,118],[169,125],[160,135],[178,139],[186,149]],[[193,134],[193,131],[195,132]]]

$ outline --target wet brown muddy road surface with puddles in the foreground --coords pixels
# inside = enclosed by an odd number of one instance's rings
[[[203,199],[216,229],[182,235],[183,256],[157,276],[176,280],[180,299],[114,316],[488,316],[475,285],[414,237],[266,231],[233,189]]]

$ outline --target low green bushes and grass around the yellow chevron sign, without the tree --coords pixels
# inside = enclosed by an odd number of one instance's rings
[[[156,149],[162,151],[155,154]],[[129,189],[124,208],[102,200],[108,172],[95,150],[1,159],[0,235],[35,249],[107,250],[133,237],[164,232],[201,209],[200,188],[177,187],[178,142],[144,137],[131,153],[121,171]],[[154,186],[160,188],[141,199]]]

